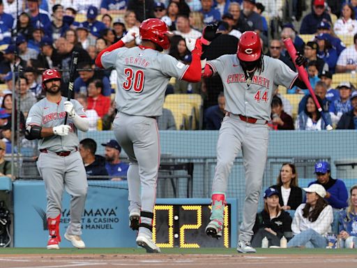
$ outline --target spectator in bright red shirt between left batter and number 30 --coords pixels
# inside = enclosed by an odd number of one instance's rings
[[[102,95],[103,84],[100,80],[93,80],[88,85],[88,110],[96,110],[100,118],[108,113],[110,98]]]

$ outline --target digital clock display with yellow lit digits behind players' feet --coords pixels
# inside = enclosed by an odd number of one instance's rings
[[[215,248],[231,246],[230,204],[225,207],[222,237],[205,232],[211,216],[208,204],[157,204],[153,218],[153,241],[160,248]]]

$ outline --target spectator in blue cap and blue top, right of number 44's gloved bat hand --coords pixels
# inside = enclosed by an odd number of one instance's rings
[[[338,54],[337,50],[331,45],[330,34],[319,34],[315,37],[319,48],[317,50],[317,57],[323,59],[328,64],[328,70],[335,73],[335,66],[337,64]]]

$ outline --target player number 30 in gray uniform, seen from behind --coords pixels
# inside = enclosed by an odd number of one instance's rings
[[[126,151],[128,169],[130,227],[139,230],[137,244],[149,253],[160,248],[152,239],[153,208],[156,181],[160,165],[160,137],[156,117],[162,114],[165,90],[171,77],[188,82],[201,79],[201,40],[189,40],[192,49],[190,66],[168,54],[169,31],[159,19],[144,20],[139,27],[142,45],[127,48],[124,45],[135,36],[131,31],[119,42],[98,54],[96,65],[116,68],[118,90],[114,119],[116,140]]]

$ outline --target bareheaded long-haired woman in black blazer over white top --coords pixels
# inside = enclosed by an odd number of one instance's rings
[[[292,163],[283,163],[276,185],[279,203],[284,210],[295,210],[303,202],[303,191],[298,187],[298,173]]]

